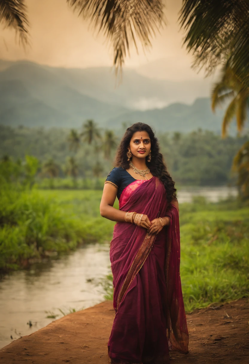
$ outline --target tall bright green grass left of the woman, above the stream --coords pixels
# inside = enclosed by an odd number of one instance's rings
[[[102,191],[0,191],[0,270],[18,269],[46,251],[64,253],[110,241],[114,222],[99,213]]]

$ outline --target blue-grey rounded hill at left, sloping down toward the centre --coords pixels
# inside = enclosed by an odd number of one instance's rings
[[[1,123],[13,126],[78,127],[87,118],[103,123],[127,111],[83,95],[53,72],[28,62],[0,72],[0,98]]]

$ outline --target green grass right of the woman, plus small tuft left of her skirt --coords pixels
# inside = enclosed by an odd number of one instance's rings
[[[249,207],[236,201],[180,205],[181,280],[186,311],[249,296]],[[104,281],[112,299],[112,276]]]

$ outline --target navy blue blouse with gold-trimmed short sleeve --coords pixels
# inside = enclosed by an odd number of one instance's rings
[[[119,199],[125,187],[134,181],[136,181],[136,179],[133,178],[127,170],[122,167],[114,167],[108,174],[105,183],[110,183],[118,189],[117,197]]]

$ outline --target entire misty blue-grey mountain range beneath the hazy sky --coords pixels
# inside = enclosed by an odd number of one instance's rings
[[[161,131],[200,127],[220,132],[223,111],[213,114],[210,99],[197,98],[204,92],[199,88],[199,80],[155,80],[132,69],[124,70],[115,87],[108,67],[68,69],[0,60],[0,123],[72,128],[94,119],[114,129],[141,121]]]

